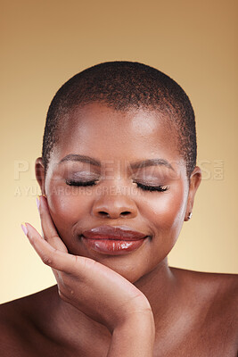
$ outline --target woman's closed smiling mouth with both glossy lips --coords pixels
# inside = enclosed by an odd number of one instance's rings
[[[127,226],[99,226],[84,231],[81,241],[89,250],[121,255],[137,250],[150,237]]]

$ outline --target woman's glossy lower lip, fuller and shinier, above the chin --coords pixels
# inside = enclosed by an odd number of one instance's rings
[[[89,249],[110,255],[121,255],[133,252],[144,244],[147,237],[138,240],[91,239],[82,237],[82,241]]]

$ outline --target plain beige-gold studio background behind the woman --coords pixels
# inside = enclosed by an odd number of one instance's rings
[[[54,284],[20,227],[40,227],[45,113],[65,80],[111,60],[165,71],[196,112],[203,180],[170,265],[238,272],[237,11],[234,0],[1,2],[1,303]]]

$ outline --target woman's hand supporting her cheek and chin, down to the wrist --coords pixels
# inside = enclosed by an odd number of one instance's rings
[[[114,270],[68,253],[54,227],[45,196],[38,201],[44,238],[29,223],[26,234],[42,261],[53,269],[62,300],[103,323],[111,333],[125,333],[127,326],[132,328],[140,320],[144,320],[145,326],[148,321],[153,326],[151,306],[145,295]]]

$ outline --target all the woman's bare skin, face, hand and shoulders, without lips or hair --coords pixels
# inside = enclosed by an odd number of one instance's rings
[[[62,161],[69,154],[90,156],[101,167]],[[156,158],[170,168],[132,169]],[[36,172],[43,237],[29,223],[27,236],[57,285],[1,305],[1,356],[237,355],[237,276],[168,267],[201,170],[195,167],[188,180],[176,129],[163,115],[79,107],[62,126],[46,175],[41,158]],[[71,179],[96,185],[73,187]],[[137,183],[167,189],[143,191]],[[152,238],[125,255],[91,251],[79,237],[102,224]]]

